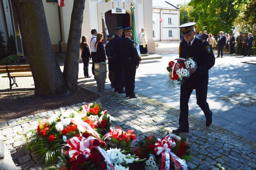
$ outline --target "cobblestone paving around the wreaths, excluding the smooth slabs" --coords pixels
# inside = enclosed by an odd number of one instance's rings
[[[70,107],[78,109],[81,105]],[[134,129],[138,138],[150,134],[161,138],[178,126],[179,110],[141,94],[137,99],[117,94],[104,101],[102,108],[112,116],[112,125],[118,125],[124,130]],[[37,127],[38,119],[58,111],[56,109],[0,123],[1,139],[11,151],[17,169],[39,169],[45,166],[40,164],[40,157],[24,150],[26,136],[29,135],[26,132]],[[188,162],[189,169],[217,170],[216,164],[221,164],[226,170],[255,169],[255,142],[215,125],[205,127],[205,122],[193,115],[189,116],[189,122],[190,132],[180,134],[190,141],[193,159]]]

